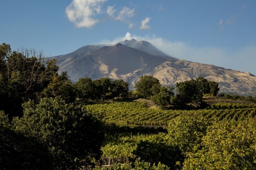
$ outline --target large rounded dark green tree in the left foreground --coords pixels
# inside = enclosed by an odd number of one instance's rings
[[[36,137],[51,153],[54,168],[79,168],[88,158],[98,158],[103,139],[102,124],[81,105],[66,103],[60,96],[24,104],[24,116],[16,117],[14,128]]]

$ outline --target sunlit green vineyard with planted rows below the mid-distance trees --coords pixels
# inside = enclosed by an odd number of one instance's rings
[[[250,119],[256,115],[256,105],[240,103],[216,103],[199,110],[163,110],[148,108],[145,102],[114,102],[87,105],[86,110],[106,124],[128,126],[167,126],[168,121],[182,114],[236,121]]]

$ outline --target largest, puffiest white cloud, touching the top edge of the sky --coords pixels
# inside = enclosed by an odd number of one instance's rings
[[[66,7],[68,19],[77,27],[91,27],[99,22],[94,18],[95,14],[101,12],[101,5],[106,0],[73,0]]]

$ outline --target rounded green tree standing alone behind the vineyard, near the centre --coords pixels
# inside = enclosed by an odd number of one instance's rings
[[[135,84],[136,91],[143,98],[150,98],[151,96],[160,92],[161,84],[159,80],[150,75],[141,76],[140,80]]]

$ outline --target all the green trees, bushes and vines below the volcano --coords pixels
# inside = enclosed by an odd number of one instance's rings
[[[56,60],[3,43],[0,85],[1,169],[256,167],[255,97],[218,94],[203,77],[164,87],[145,75],[136,91],[109,78],[72,83]]]

